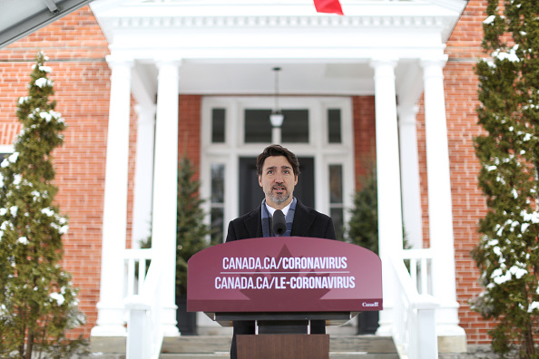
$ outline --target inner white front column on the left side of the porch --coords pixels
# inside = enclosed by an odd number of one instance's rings
[[[176,213],[178,193],[179,61],[158,62],[157,120],[153,171],[152,247],[162,260],[162,325],[165,336],[177,336]]]

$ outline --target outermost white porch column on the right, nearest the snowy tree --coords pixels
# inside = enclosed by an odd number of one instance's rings
[[[436,312],[437,335],[464,336],[458,326],[456,302],[453,209],[449,173],[444,73],[446,59],[422,61],[425,87],[426,171],[433,295],[440,301]]]

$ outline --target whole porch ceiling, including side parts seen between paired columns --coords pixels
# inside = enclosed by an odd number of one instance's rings
[[[279,95],[372,95],[374,70],[368,63],[328,62],[320,59],[243,61],[207,63],[196,59],[181,61],[180,93],[204,95],[273,95],[274,67],[280,67]],[[153,63],[135,64],[133,94],[138,102],[154,102],[157,95],[157,68]],[[422,72],[417,61],[400,62],[396,68],[399,102],[416,102],[423,91]]]

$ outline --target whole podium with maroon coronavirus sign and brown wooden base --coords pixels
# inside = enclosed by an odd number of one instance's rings
[[[322,238],[251,238],[209,247],[188,263],[187,310],[223,326],[255,323],[237,335],[238,359],[328,359],[329,336],[309,323],[341,325],[382,309],[380,258]]]

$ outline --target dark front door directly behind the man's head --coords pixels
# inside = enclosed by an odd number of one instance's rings
[[[299,160],[299,179],[294,189],[294,197],[304,205],[314,208],[314,158],[301,157]],[[256,157],[240,158],[240,216],[256,209],[264,199],[257,175]]]

